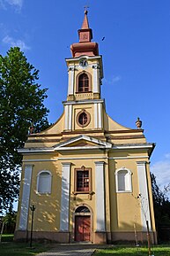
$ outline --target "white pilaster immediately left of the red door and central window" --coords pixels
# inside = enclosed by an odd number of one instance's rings
[[[60,230],[69,231],[70,165],[63,163]]]

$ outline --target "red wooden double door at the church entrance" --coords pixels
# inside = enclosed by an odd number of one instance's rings
[[[91,241],[91,216],[75,216],[75,241]]]

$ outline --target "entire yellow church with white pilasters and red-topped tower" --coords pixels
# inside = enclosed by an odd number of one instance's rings
[[[142,122],[118,124],[100,95],[102,56],[92,42],[87,11],[78,43],[66,58],[68,94],[63,114],[24,148],[15,240],[55,243],[157,243],[150,177],[155,144]],[[111,92],[110,92],[111,93]],[[33,210],[34,206],[34,212]],[[32,207],[32,208],[31,208]]]

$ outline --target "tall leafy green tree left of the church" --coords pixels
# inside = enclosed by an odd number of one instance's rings
[[[39,71],[27,62],[18,47],[0,55],[0,213],[18,195],[18,168],[31,124],[35,132],[48,127],[44,106],[47,89],[38,84]]]

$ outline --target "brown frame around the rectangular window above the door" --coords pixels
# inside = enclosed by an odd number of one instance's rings
[[[89,189],[88,190],[78,190],[77,182],[78,182],[78,171],[88,171],[89,172]],[[90,167],[80,167],[74,169],[74,194],[90,194],[92,193],[92,168]]]

